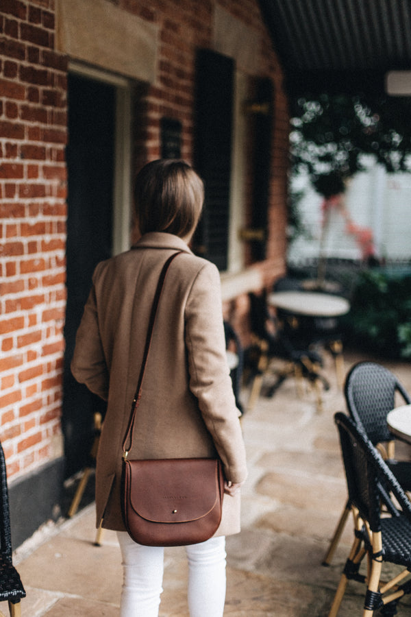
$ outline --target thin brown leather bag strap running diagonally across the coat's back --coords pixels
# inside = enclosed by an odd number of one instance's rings
[[[182,251],[178,251],[177,253],[173,253],[173,255],[171,255],[167,259],[166,263],[164,263],[164,266],[162,267],[162,271],[160,273],[160,278],[158,279],[157,288],[155,289],[155,295],[154,295],[154,298],[153,298],[153,304],[151,305],[151,313],[150,313],[150,319],[149,319],[149,328],[147,330],[147,337],[146,337],[146,341],[145,341],[145,349],[144,349],[144,354],[142,355],[142,363],[141,363],[141,368],[140,368],[140,376],[138,377],[138,384],[137,384],[136,394],[134,394],[134,399],[133,399],[133,402],[132,402],[132,411],[130,413],[130,419],[129,419],[129,423],[128,423],[128,426],[127,426],[127,431],[125,433],[124,441],[123,441],[123,453],[124,453],[123,454],[123,459],[124,460],[127,459],[127,455],[129,453],[129,450],[132,449],[132,445],[133,445],[133,429],[134,429],[134,422],[136,420],[136,411],[137,411],[138,404],[140,403],[140,398],[141,398],[141,394],[142,394],[142,380],[143,380],[144,375],[145,375],[145,369],[146,369],[146,365],[147,365],[147,358],[149,356],[151,339],[153,338],[153,328],[154,328],[154,322],[155,322],[155,315],[157,315],[158,303],[160,301],[161,292],[162,292],[162,289],[163,289],[163,286],[164,286],[164,280],[166,280],[166,274],[167,274],[167,271],[169,270],[171,262],[181,252]],[[128,446],[127,446],[127,441],[129,442]]]

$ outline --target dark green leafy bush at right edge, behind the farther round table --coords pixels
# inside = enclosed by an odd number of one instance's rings
[[[386,357],[411,359],[411,274],[360,273],[346,324],[356,343]]]

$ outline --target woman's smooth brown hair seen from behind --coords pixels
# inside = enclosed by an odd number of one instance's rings
[[[134,201],[141,234],[166,232],[184,238],[199,221],[203,181],[184,160],[154,160],[136,177]]]

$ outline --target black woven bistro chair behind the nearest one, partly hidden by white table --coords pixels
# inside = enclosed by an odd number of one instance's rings
[[[397,394],[407,404],[411,402],[406,389],[397,377],[382,365],[358,362],[347,374],[344,394],[353,421],[365,431],[373,445],[379,448],[401,487],[411,491],[411,463],[395,460],[393,435],[388,431],[386,421],[388,412],[395,407]],[[323,559],[324,566],[328,566],[332,561],[350,511],[351,505],[347,502]]]

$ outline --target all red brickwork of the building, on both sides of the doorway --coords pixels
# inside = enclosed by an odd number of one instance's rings
[[[158,75],[138,97],[136,169],[160,156],[163,116],[182,122],[182,156],[191,160],[195,50],[212,45],[216,0],[115,3],[160,28]],[[260,76],[275,84],[269,246],[260,265],[270,285],[284,271],[288,110],[282,72],[256,1],[220,4],[260,34]],[[0,439],[9,477],[62,454],[68,59],[54,49],[54,0],[1,1]],[[245,313],[243,298],[238,307],[234,319]]]

